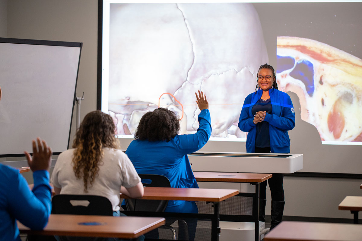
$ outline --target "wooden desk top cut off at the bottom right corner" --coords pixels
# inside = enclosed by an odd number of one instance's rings
[[[265,241],[361,241],[361,224],[282,221]]]

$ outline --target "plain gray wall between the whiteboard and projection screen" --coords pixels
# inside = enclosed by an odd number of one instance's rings
[[[77,96],[84,91],[81,119],[96,109],[97,29],[96,0],[8,1],[8,38],[82,42]],[[73,115],[72,136],[76,120]]]

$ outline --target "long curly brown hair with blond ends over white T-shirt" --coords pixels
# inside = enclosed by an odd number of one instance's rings
[[[101,111],[89,112],[83,119],[73,141],[73,171],[77,179],[83,178],[87,193],[88,179],[92,186],[96,178],[104,152],[103,147],[119,148],[114,135],[112,117]]]

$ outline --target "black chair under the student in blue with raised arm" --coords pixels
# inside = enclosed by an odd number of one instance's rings
[[[170,180],[161,175],[156,174],[138,174],[142,179],[142,184],[144,186],[153,186],[161,188],[170,188]],[[125,199],[127,211],[143,211],[143,212],[163,212],[167,207],[168,200],[143,200],[143,199]],[[172,231],[172,239],[176,240],[176,230],[171,226],[176,220],[178,220],[178,229],[179,232],[182,230],[186,240],[188,240],[188,227],[187,223],[183,219],[173,219],[167,218],[165,225],[159,228],[166,228]],[[157,230],[157,229],[156,229]],[[152,231],[151,231],[152,232]],[[156,234],[158,236],[158,232]],[[147,234],[145,234],[147,238]]]

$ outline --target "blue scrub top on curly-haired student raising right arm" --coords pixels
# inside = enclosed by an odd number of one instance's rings
[[[187,154],[198,151],[209,140],[211,119],[208,109],[199,116],[195,134],[176,135],[171,141],[134,140],[126,154],[140,174],[158,174],[168,177],[172,188],[198,188]],[[168,207],[185,201],[169,201]]]

